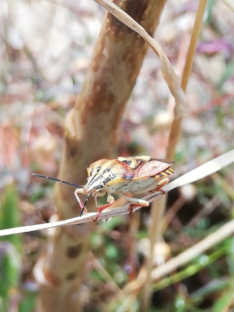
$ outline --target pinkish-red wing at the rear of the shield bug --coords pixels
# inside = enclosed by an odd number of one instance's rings
[[[134,179],[143,177],[158,177],[170,175],[175,170],[170,166],[173,162],[165,162],[157,159],[152,159],[146,162],[142,162],[134,170]]]

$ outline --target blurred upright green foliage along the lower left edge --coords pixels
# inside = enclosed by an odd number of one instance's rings
[[[13,228],[21,224],[18,201],[15,186],[13,184],[6,186],[0,205],[0,229]],[[20,281],[22,252],[21,235],[0,237],[0,312],[34,311],[36,293],[29,290],[23,292]]]

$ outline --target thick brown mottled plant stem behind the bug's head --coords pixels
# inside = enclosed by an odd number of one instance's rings
[[[146,31],[154,33],[165,0],[134,0],[134,5],[132,1],[116,2]],[[82,184],[90,163],[114,156],[122,113],[147,48],[139,34],[112,14],[106,15],[81,94],[65,120],[60,178]],[[79,215],[73,192],[73,187],[56,184],[55,202],[60,220]],[[89,223],[55,229],[35,267],[41,311],[82,310],[84,296],[78,295],[78,291],[86,277],[93,226]]]

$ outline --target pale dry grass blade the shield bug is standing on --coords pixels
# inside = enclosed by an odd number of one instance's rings
[[[187,183],[194,182],[199,180],[205,176],[208,176],[223,167],[231,164],[234,162],[234,150],[227,152],[219,157],[216,157],[201,166],[193,169],[192,171],[185,173],[184,175],[178,177],[174,181],[170,182],[169,184],[163,187],[165,192],[168,192],[175,187],[185,185]],[[143,197],[143,199],[148,200],[149,202],[153,201],[156,196],[160,193],[154,193]],[[140,209],[140,207],[133,208],[133,212]],[[114,209],[107,209],[104,210],[99,217],[99,220],[106,220],[115,216],[120,215],[128,215],[129,214],[129,204],[126,204],[121,207],[116,207]],[[0,236],[12,235],[12,234],[19,234],[19,233],[26,233],[38,230],[44,230],[49,228],[54,228],[58,226],[66,226],[72,224],[82,224],[87,222],[93,222],[92,219],[96,216],[96,212],[91,212],[83,215],[82,217],[75,217],[67,220],[51,222],[51,223],[44,223],[44,224],[36,224],[36,225],[29,225],[29,226],[21,226],[12,229],[4,229],[0,230]]]

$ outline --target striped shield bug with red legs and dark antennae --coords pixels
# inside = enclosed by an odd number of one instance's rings
[[[86,211],[86,204],[89,198],[95,196],[95,204],[98,209],[97,221],[101,212],[115,203],[112,194],[121,194],[127,201],[131,202],[130,214],[133,207],[147,207],[147,200],[130,197],[132,194],[145,192],[161,192],[165,184],[169,182],[168,175],[175,172],[171,167],[174,162],[167,162],[161,159],[154,159],[150,156],[118,157],[117,159],[100,159],[93,162],[88,168],[88,178],[84,185],[74,184],[54,177],[37,173],[32,175],[59,181],[69,185],[77,186],[74,194],[81,207],[80,216]],[[107,204],[98,207],[98,196],[107,193]],[[79,194],[88,195],[83,203]]]

